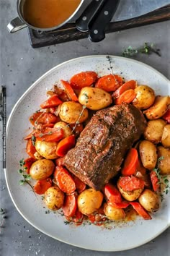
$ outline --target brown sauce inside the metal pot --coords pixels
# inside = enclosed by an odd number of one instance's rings
[[[81,0],[26,0],[23,17],[30,25],[55,27],[73,14]]]

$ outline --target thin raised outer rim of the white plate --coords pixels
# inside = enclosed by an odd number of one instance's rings
[[[9,125],[10,125],[10,122],[11,122],[11,119],[12,119],[12,116],[14,115],[14,111],[16,110],[17,106],[19,105],[20,101],[22,101],[22,99],[27,95],[27,93],[29,93],[33,88],[35,88],[35,86],[42,80],[44,79],[45,77],[48,76],[48,74],[50,73],[53,73],[53,71],[55,69],[57,69],[58,67],[62,67],[63,65],[67,64],[67,63],[71,63],[73,61],[79,61],[81,59],[91,59],[91,58],[95,58],[95,59],[98,59],[98,58],[107,58],[107,56],[111,57],[112,59],[122,59],[122,60],[126,60],[126,61],[129,61],[129,62],[135,62],[136,64],[140,64],[140,65],[143,65],[144,67],[148,68],[148,69],[151,69],[153,72],[156,72],[159,76],[161,76],[164,80],[166,80],[166,82],[168,82],[168,84],[170,85],[170,80],[164,75],[162,74],[161,72],[159,72],[157,69],[151,67],[150,65],[148,64],[145,64],[143,63],[142,61],[138,61],[138,60],[135,60],[135,59],[129,59],[129,58],[125,58],[125,57],[122,57],[122,56],[116,56],[116,55],[109,55],[109,54],[100,54],[100,55],[88,55],[88,56],[81,56],[81,57],[77,57],[77,58],[73,58],[73,59],[68,59],[67,61],[63,61],[62,63],[56,65],[55,67],[49,69],[47,72],[45,72],[44,74],[42,74],[42,76],[40,76],[35,82],[32,83],[32,85],[30,85],[29,88],[27,88],[27,90],[19,97],[19,99],[17,100],[17,102],[14,104],[13,108],[12,108],[12,111],[10,112],[9,114],[9,117],[7,119],[7,122],[6,122],[6,145],[7,145],[7,141],[8,141],[8,133],[9,133]],[[7,150],[7,147],[6,147],[6,155],[8,153],[8,150]],[[42,229],[40,229],[39,227],[37,227],[34,223],[32,223],[29,219],[27,219],[27,217],[24,216],[24,214],[22,214],[22,211],[19,210],[19,208],[17,207],[17,204],[15,203],[14,201],[14,198],[12,197],[12,192],[11,192],[11,189],[9,187],[9,182],[8,182],[8,177],[7,177],[7,161],[6,161],[6,168],[4,169],[4,175],[5,175],[5,180],[6,180],[6,187],[8,189],[8,192],[9,192],[9,195],[12,199],[12,202],[14,203],[14,206],[15,208],[17,209],[17,211],[19,212],[19,214],[22,216],[22,218],[24,218],[25,221],[27,221],[28,223],[30,223],[31,226],[33,226],[35,229],[37,229],[38,231],[42,232],[42,234],[45,234],[47,236],[50,236],[51,238],[55,239],[55,240],[58,240],[60,242],[63,242],[65,244],[70,244],[71,246],[74,246],[74,247],[78,247],[78,248],[82,248],[82,249],[89,249],[91,251],[96,251],[96,252],[120,252],[120,251],[125,251],[125,250],[129,250],[129,249],[134,249],[136,247],[140,247],[142,246],[143,244],[146,244],[148,242],[151,242],[152,239],[155,239],[157,236],[159,236],[160,234],[162,234],[166,229],[169,228],[170,226],[170,222],[167,223],[167,225],[164,227],[164,229],[161,229],[161,231],[159,231],[158,233],[156,233],[154,236],[152,236],[151,239],[146,239],[144,242],[141,242],[141,243],[138,243],[138,244],[135,244],[134,247],[130,246],[130,247],[126,247],[125,249],[104,249],[104,250],[101,250],[101,249],[91,249],[91,248],[88,248],[88,247],[84,247],[84,246],[81,246],[81,245],[75,245],[73,243],[70,243],[70,242],[65,242],[64,240],[62,239],[58,239],[56,238],[55,236],[51,235],[51,234],[48,234],[48,231],[42,231]]]

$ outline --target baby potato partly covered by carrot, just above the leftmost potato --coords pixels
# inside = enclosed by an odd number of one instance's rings
[[[36,141],[35,149],[37,152],[47,159],[58,158],[55,151],[57,149],[57,142],[45,142],[45,141]]]

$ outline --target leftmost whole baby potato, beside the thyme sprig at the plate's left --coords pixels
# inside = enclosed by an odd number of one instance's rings
[[[30,176],[32,179],[46,179],[53,174],[55,164],[48,159],[37,160],[32,163],[30,168]]]

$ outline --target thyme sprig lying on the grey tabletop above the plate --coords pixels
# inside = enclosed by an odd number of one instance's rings
[[[154,44],[151,43],[144,43],[144,46],[140,48],[132,48],[132,46],[129,46],[128,48],[125,48],[124,51],[122,52],[122,56],[124,57],[133,57],[136,56],[137,54],[157,54],[158,56],[161,57],[161,52],[159,48],[155,48]]]

